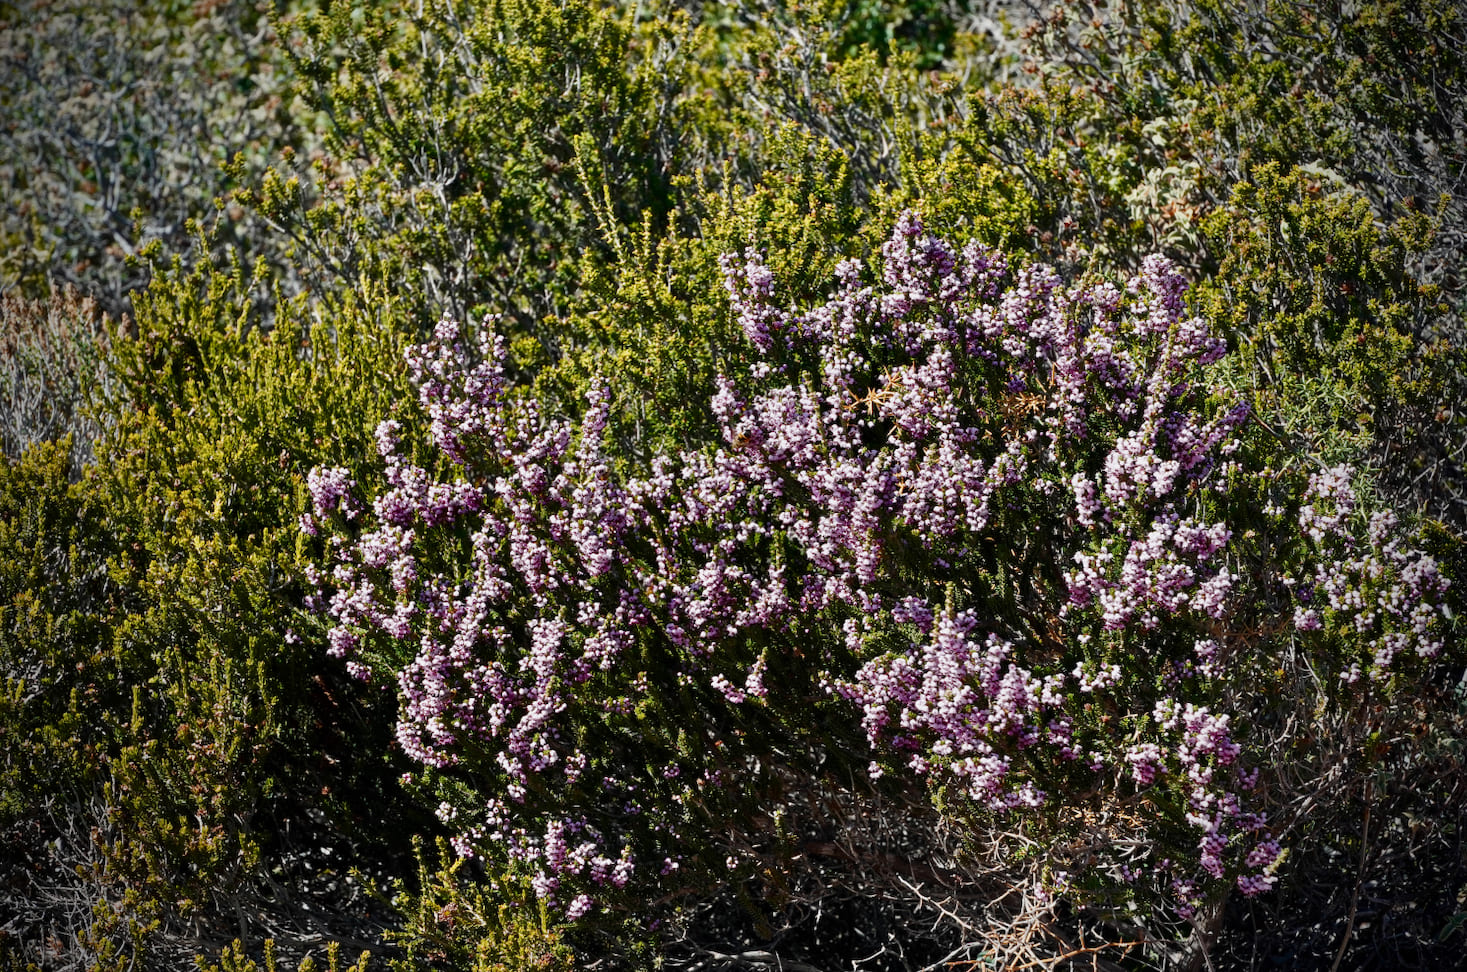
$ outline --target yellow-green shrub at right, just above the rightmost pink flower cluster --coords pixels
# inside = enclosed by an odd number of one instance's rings
[[[1197,308],[1251,347],[1269,413],[1322,409],[1310,452],[1369,435],[1376,412],[1429,390],[1429,349],[1413,336],[1439,312],[1438,289],[1408,271],[1430,240],[1424,216],[1382,229],[1363,198],[1269,163],[1203,232],[1223,257]]]

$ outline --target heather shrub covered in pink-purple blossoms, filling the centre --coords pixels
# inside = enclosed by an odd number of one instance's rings
[[[1116,811],[1128,839],[1053,886],[1184,916],[1272,887],[1253,658],[1295,642],[1331,698],[1414,677],[1445,581],[1348,471],[1253,468],[1181,276],[1067,284],[914,214],[811,309],[758,254],[723,267],[717,441],[618,472],[610,386],[547,415],[445,321],[408,364],[452,475],[384,422],[387,490],[311,476],[333,652],[396,677],[459,852],[575,919],[706,866],[783,754],[864,736],[871,777],[974,824]]]

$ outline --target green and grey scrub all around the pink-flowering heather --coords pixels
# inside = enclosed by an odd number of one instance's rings
[[[0,962],[1445,968],[1464,111],[1449,0],[0,3]],[[377,496],[395,419],[455,475],[403,359],[445,315],[503,336],[546,415],[609,380],[621,476],[714,449],[716,378],[751,361],[720,258],[763,254],[813,308],[908,210],[1072,281],[1166,255],[1226,339],[1219,400],[1253,405],[1256,485],[1348,463],[1361,523],[1394,510],[1452,581],[1444,651],[1344,704],[1311,679],[1354,635],[1234,619],[1267,688],[1235,726],[1289,853],[1200,918],[1055,878],[1089,796],[1040,833],[867,780],[827,701],[726,726],[764,789],[710,800],[675,894],[568,922],[447,843],[443,808],[494,793],[403,752],[411,658],[362,680],[330,654],[312,469]],[[673,695],[628,765],[687,752],[711,710]]]

